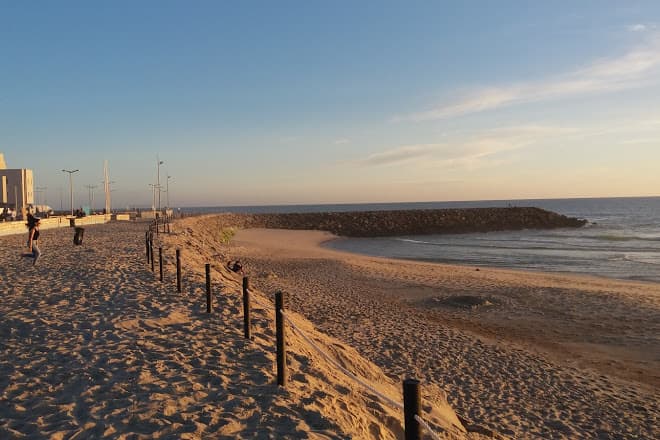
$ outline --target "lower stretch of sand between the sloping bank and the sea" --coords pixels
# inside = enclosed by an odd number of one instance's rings
[[[260,290],[390,377],[515,438],[660,438],[660,285],[358,256],[319,231],[242,230]]]

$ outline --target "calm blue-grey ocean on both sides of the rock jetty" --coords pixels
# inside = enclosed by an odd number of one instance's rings
[[[660,283],[660,197],[190,208],[194,212],[332,212],[534,206],[588,220],[577,229],[345,238],[353,253]],[[185,211],[188,211],[186,209]]]

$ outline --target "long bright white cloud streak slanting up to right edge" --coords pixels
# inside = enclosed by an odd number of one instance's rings
[[[395,120],[429,121],[462,116],[521,103],[571,98],[644,86],[660,78],[660,37],[643,47],[584,68],[545,80],[475,90],[455,102],[396,117]]]

